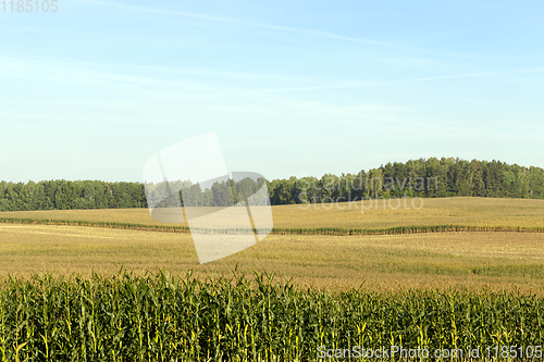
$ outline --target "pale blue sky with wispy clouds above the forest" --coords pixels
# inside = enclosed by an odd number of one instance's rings
[[[0,4],[0,179],[141,182],[210,130],[267,178],[544,166],[542,1],[57,3]]]

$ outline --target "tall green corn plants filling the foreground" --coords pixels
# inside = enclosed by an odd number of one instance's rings
[[[316,361],[320,346],[542,346],[543,327],[537,296],[323,291],[265,273],[35,275],[0,286],[2,361]]]

